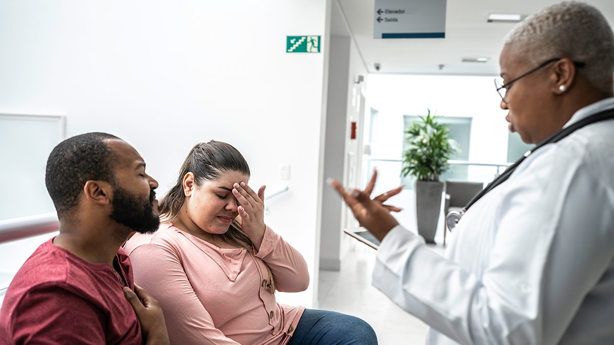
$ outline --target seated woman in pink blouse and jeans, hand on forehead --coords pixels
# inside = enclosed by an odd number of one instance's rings
[[[265,186],[247,185],[235,147],[195,145],[160,201],[153,235],[125,244],[134,281],[162,306],[174,344],[377,344],[363,320],[287,306],[274,292],[309,285],[305,259],[264,222]]]

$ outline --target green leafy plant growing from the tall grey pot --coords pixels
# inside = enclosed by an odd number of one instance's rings
[[[448,160],[459,152],[456,141],[451,139],[448,125],[439,123],[440,116],[430,114],[420,117],[405,128],[405,151],[403,152],[403,177],[411,175],[418,180],[438,181],[449,168]]]

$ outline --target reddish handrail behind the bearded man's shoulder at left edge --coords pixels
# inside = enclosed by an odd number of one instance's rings
[[[52,233],[59,227],[55,212],[0,220],[0,243]]]

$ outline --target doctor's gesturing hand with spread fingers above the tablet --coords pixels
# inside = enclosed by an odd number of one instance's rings
[[[401,192],[403,186],[399,186],[386,193],[376,196],[371,199],[371,192],[375,187],[375,180],[377,179],[377,171],[373,172],[371,180],[367,184],[365,190],[353,190],[351,193],[346,192],[343,185],[338,180],[331,179],[329,184],[336,189],[341,195],[343,200],[348,204],[354,217],[358,220],[361,227],[367,228],[367,230],[373,234],[379,241],[384,239],[384,236],[388,231],[392,230],[398,225],[397,220],[390,214],[391,211],[401,211],[400,208],[395,206],[384,205],[384,201],[387,201],[393,195],[397,195]]]

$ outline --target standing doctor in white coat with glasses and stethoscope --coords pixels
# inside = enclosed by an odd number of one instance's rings
[[[381,240],[373,285],[429,344],[614,344],[614,34],[561,2],[512,29],[497,81],[510,131],[538,144],[457,224],[445,257],[385,200],[336,188]]]

